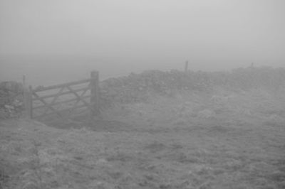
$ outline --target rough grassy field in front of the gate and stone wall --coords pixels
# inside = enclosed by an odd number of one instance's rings
[[[0,122],[0,188],[285,188],[284,92],[179,92]]]

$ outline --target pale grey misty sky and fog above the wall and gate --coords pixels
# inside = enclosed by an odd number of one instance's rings
[[[283,0],[0,0],[0,80],[285,65]]]

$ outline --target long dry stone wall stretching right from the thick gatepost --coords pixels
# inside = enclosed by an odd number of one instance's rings
[[[143,102],[152,95],[171,96],[185,90],[211,92],[217,87],[227,90],[280,90],[285,88],[285,69],[249,67],[231,72],[147,70],[100,82],[103,106],[113,102]]]

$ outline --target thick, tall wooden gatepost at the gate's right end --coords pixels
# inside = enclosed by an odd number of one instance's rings
[[[90,77],[90,118],[93,119],[100,114],[99,72],[92,71]]]

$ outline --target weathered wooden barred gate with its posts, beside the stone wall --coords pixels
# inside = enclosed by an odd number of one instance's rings
[[[35,89],[30,85],[24,96],[26,116],[30,119],[68,119],[86,110],[94,117],[99,114],[99,72],[91,72],[86,80]]]

